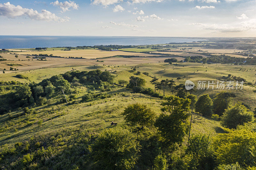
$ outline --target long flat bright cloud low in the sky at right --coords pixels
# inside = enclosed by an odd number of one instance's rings
[[[202,23],[192,23],[191,25],[197,25],[203,27],[206,30],[215,30],[222,33],[238,33],[248,30],[243,26],[227,26],[227,25],[218,25],[218,24],[202,24]],[[256,22],[255,22],[256,26]]]

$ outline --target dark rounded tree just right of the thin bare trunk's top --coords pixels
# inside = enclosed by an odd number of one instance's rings
[[[203,116],[212,116],[212,99],[208,94],[203,94],[196,102],[196,112]]]

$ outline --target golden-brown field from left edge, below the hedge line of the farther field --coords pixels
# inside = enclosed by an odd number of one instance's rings
[[[138,53],[140,54],[140,53]],[[158,63],[164,62],[165,59],[170,57],[132,57],[132,58],[122,58],[122,57],[112,57],[99,59],[104,61],[104,63],[96,62],[97,60],[85,59],[85,58],[58,58],[58,57],[46,57],[47,61],[41,61],[31,58],[26,58],[26,55],[18,55],[18,58],[14,54],[0,54],[5,59],[10,61],[0,62],[0,70],[6,69],[6,73],[14,72],[9,71],[10,66],[7,64],[20,64],[22,66],[13,66],[20,70],[35,70],[40,68],[54,68],[54,67],[67,67],[67,66],[88,66],[88,65],[112,65],[112,64],[140,64],[140,63]],[[183,60],[182,57],[175,57],[178,61]],[[19,61],[20,59],[20,61]],[[23,60],[23,61],[22,61]],[[0,72],[0,74],[2,71]]]

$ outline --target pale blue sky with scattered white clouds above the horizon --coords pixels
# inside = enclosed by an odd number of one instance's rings
[[[256,37],[256,0],[0,0],[0,23],[0,35]]]

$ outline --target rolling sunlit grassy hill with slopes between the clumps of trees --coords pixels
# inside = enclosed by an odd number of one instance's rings
[[[136,68],[136,71],[133,71],[132,68]],[[200,63],[174,63],[172,65],[167,63],[102,64],[98,66],[60,67],[19,72],[19,74],[28,77],[28,80],[16,78],[15,73],[1,74],[1,80],[39,83],[45,78],[72,69],[79,71],[107,70],[114,76],[115,83],[121,79],[128,81],[129,77],[138,76],[144,78],[146,87],[152,89],[154,86],[150,84],[150,80],[151,77],[155,76],[159,80],[174,79],[176,85],[185,83],[187,79],[195,84],[197,81],[217,81],[223,79],[223,76],[228,77],[228,74],[245,78],[247,82],[252,82],[252,84],[256,81],[255,66]],[[138,71],[141,74],[136,75]],[[144,75],[143,72],[148,72],[151,77]],[[180,79],[177,80],[177,78]],[[253,90],[255,90],[254,85],[244,85],[243,89],[230,90],[236,94],[233,103],[244,102],[253,110],[256,105],[256,93]],[[107,92],[111,94],[111,97],[83,102],[82,96],[89,91],[100,93],[100,89],[93,90],[90,85],[74,86],[70,92],[66,93],[68,100],[70,96],[75,95],[68,101],[68,105],[63,102],[63,94],[58,92],[51,99],[48,99],[47,104],[29,106],[28,109],[30,110],[27,113],[24,112],[23,108],[17,108],[7,114],[0,115],[0,155],[2,155],[0,161],[4,161],[1,163],[2,166],[11,164],[10,167],[15,169],[19,167],[20,163],[27,165],[26,162],[24,163],[27,161],[24,159],[24,155],[29,153],[34,155],[38,165],[40,162],[44,162],[43,167],[45,168],[52,166],[53,169],[91,169],[93,162],[88,158],[88,146],[104,129],[127,127],[124,123],[124,116],[121,115],[127,105],[146,104],[156,112],[156,115],[161,113],[160,108],[162,106],[160,103],[163,101],[162,99],[134,93],[125,87],[111,85],[111,91]],[[216,93],[221,91],[223,90],[197,90],[194,94],[200,96],[209,93],[210,97],[213,98]],[[2,90],[0,95],[4,93],[6,91]],[[163,94],[162,90],[160,93]],[[171,94],[171,90],[167,89],[166,95]],[[116,127],[110,126],[112,121],[117,122]],[[218,121],[215,122],[210,118],[194,115],[191,133],[215,136],[218,133],[223,133],[223,127]],[[186,140],[184,140],[185,144]],[[9,156],[5,157],[4,155]],[[38,168],[35,163],[28,163],[28,165],[30,169]]]

